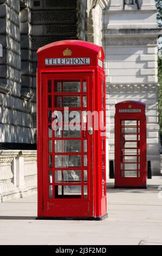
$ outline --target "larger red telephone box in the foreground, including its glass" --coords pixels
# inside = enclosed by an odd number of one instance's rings
[[[85,41],[38,50],[38,218],[107,217],[103,61]]]

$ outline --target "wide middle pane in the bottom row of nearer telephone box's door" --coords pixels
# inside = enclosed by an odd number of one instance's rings
[[[79,197],[82,196],[82,186],[55,186],[55,197]]]

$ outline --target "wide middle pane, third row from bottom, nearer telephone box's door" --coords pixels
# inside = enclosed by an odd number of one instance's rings
[[[80,167],[81,156],[80,155],[55,155],[55,167]]]

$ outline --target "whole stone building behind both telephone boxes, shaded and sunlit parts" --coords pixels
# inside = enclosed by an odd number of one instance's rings
[[[160,174],[157,37],[161,31],[156,13],[154,0],[0,0],[1,142],[36,142],[38,48],[65,39],[91,41],[105,51],[107,166],[114,160],[115,103],[134,99],[146,103],[147,160],[153,173]]]

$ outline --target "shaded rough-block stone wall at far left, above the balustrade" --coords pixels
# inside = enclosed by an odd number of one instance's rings
[[[22,90],[23,86],[26,88],[31,84],[31,81],[28,84],[24,81],[23,63],[21,65],[24,58],[24,52],[21,52],[22,7],[29,9],[30,1],[0,0],[0,44],[3,46],[3,57],[0,58],[1,142],[34,143],[31,95]],[[28,27],[28,22],[24,25]]]

